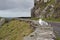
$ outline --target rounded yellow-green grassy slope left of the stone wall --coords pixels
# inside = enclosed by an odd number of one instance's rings
[[[0,28],[0,40],[23,40],[32,30],[29,23],[13,20]]]

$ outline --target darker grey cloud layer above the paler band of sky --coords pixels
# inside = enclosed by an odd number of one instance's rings
[[[33,6],[32,0],[0,0],[0,10],[11,8],[28,9]]]

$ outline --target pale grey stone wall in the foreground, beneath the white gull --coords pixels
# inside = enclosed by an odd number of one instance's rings
[[[28,36],[24,37],[24,40],[54,40],[55,35],[53,32],[53,27],[51,26],[41,26],[38,25],[37,21],[32,21],[32,25],[34,25],[35,30]]]

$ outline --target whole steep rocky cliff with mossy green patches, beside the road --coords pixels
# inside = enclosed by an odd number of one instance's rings
[[[32,17],[57,18],[60,17],[60,2],[57,0],[34,0],[34,7],[31,10]],[[58,5],[57,5],[58,4]]]

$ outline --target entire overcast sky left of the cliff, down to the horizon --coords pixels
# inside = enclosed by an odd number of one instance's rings
[[[0,16],[19,17],[31,16],[30,9],[34,6],[33,0],[0,0]]]

